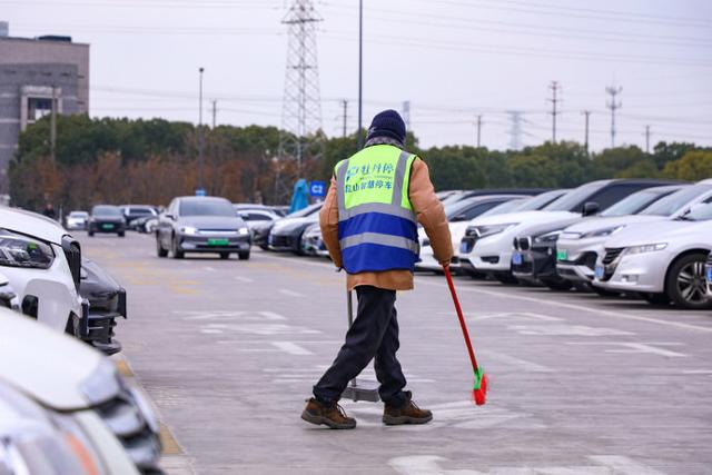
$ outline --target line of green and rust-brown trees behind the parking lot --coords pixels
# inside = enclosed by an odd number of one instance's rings
[[[97,202],[166,205],[199,186],[198,128],[164,119],[91,119],[61,116],[55,158],[49,119],[28,127],[10,164],[11,200],[41,209],[53,202],[87,209]],[[285,204],[298,177],[328,180],[334,166],[357,150],[357,136],[309,137],[301,169],[279,159],[275,127],[204,127],[204,185],[208,194],[235,202]],[[635,146],[589,154],[576,142],[545,142],[522,150],[446,146],[422,149],[408,133],[407,147],[431,169],[437,190],[502,187],[575,187],[603,178],[712,177],[712,149],[688,142],[659,142],[651,154]]]

